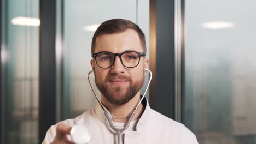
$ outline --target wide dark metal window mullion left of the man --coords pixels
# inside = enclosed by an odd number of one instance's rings
[[[39,6],[39,142],[56,123],[56,1]]]

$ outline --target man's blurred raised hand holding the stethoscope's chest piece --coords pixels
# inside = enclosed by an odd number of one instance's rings
[[[56,128],[56,136],[54,137],[54,141],[51,142],[51,144],[54,143],[69,143],[69,144],[74,144],[72,141],[68,140],[68,135],[70,134],[70,130],[72,127],[69,125],[61,122],[57,125]]]

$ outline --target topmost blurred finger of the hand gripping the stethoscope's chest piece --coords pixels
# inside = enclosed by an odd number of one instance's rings
[[[59,140],[65,139],[66,135],[69,134],[70,130],[72,129],[72,127],[70,127],[69,125],[61,122],[57,125],[56,128],[56,137]]]

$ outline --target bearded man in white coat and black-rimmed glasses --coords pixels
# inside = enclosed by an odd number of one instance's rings
[[[115,127],[122,128],[141,99],[144,69],[148,66],[144,33],[128,20],[105,21],[92,38],[91,53],[101,103],[111,113]],[[117,143],[117,134],[110,128],[99,104],[75,119],[51,126],[43,143],[72,143],[69,134],[75,124],[88,126],[89,143]],[[122,133],[121,143],[194,144],[197,140],[183,124],[150,109],[144,98],[129,128]]]

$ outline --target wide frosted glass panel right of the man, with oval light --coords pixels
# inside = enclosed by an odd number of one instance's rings
[[[256,2],[185,4],[185,125],[199,143],[256,143]]]

